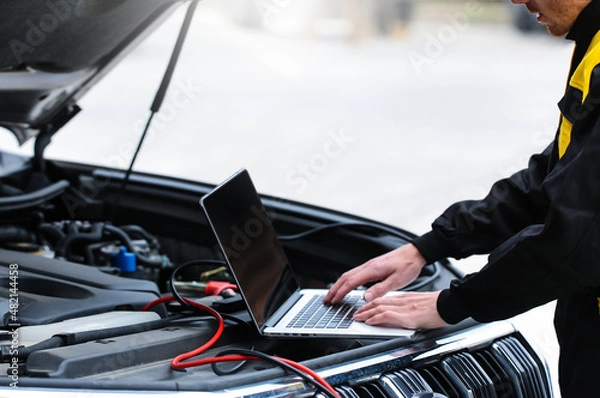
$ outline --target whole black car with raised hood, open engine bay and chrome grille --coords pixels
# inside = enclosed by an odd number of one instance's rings
[[[158,111],[196,4],[0,5],[0,126],[34,142],[31,157],[0,154],[2,395],[552,397],[544,358],[508,321],[469,320],[391,339],[263,337],[199,205],[214,184],[45,157],[52,137],[81,111],[81,97],[167,16],[188,7],[152,105]],[[327,288],[414,236],[261,199],[302,287]],[[460,276],[450,262],[437,262],[405,290],[442,289]],[[188,352],[193,360],[239,357],[175,366]]]

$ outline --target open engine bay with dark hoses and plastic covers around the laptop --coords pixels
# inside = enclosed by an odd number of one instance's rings
[[[11,205],[0,224],[0,302],[7,339],[2,359],[11,365],[14,355],[7,343],[19,336],[19,349],[27,351],[19,354],[21,380],[102,378],[107,372],[124,367],[133,371],[150,363],[171,372],[164,361],[202,345],[215,329],[215,321],[205,313],[182,308],[175,300],[142,312],[174,290],[235,319],[227,322],[217,346],[262,346],[270,354],[285,353],[302,361],[365,344],[325,339],[306,349],[285,339],[263,339],[253,330],[198,205],[210,187],[185,182],[174,187],[166,179],[133,177],[112,222],[107,219],[122,176],[61,166],[48,164],[60,185],[32,171],[27,160],[3,178],[3,199],[10,199]],[[284,231],[282,243],[303,287],[326,287],[353,263],[401,244],[404,236],[408,239],[401,230],[389,233],[385,226],[369,226],[345,215],[332,213],[333,218],[323,220],[316,216],[332,215],[313,211],[312,217],[299,216],[288,209],[296,204],[269,198],[265,202],[274,225]],[[335,225],[323,228],[328,223]],[[349,242],[353,249],[344,249]],[[324,263],[330,265],[324,268]],[[426,288],[437,280],[438,268],[424,271],[416,287]],[[158,314],[158,319],[148,314]],[[62,336],[56,346],[36,348],[56,336]],[[133,359],[125,366],[115,359],[120,355]],[[90,365],[98,359],[103,367]]]

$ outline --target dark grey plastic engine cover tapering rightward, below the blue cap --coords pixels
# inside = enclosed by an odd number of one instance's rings
[[[0,249],[0,256],[18,264],[19,312],[22,326],[43,325],[114,310],[141,309],[160,296],[156,284],[107,275],[97,268]],[[9,275],[0,263],[0,274]],[[11,317],[10,279],[0,278],[0,320]]]

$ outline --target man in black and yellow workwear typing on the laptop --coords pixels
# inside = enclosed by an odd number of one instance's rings
[[[468,317],[505,319],[558,299],[562,395],[599,396],[600,0],[513,3],[538,14],[550,34],[575,41],[556,139],[483,200],[452,205],[427,234],[342,275],[325,301],[379,281],[365,292],[368,304],[357,320],[429,329]],[[382,297],[409,284],[426,263],[483,253],[487,265],[448,289]]]

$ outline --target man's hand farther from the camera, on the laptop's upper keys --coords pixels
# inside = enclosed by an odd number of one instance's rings
[[[406,244],[345,272],[329,289],[323,301],[337,304],[350,290],[367,282],[381,281],[365,292],[364,299],[370,302],[414,281],[424,265],[425,258],[416,246]]]

